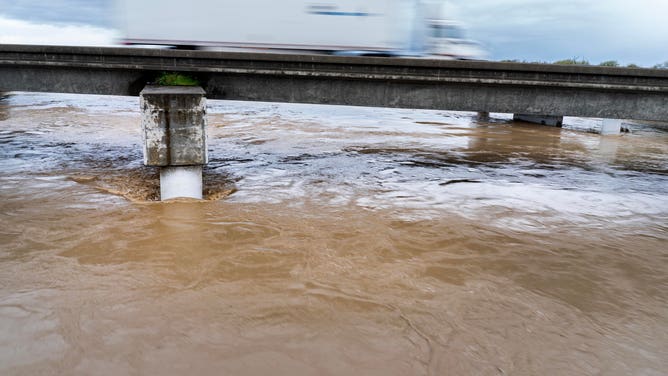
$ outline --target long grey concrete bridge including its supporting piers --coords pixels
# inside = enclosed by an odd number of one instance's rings
[[[166,71],[204,90],[147,87]],[[201,197],[205,97],[668,121],[668,70],[483,61],[0,45],[1,91],[141,95],[144,163],[162,167],[163,199]]]

